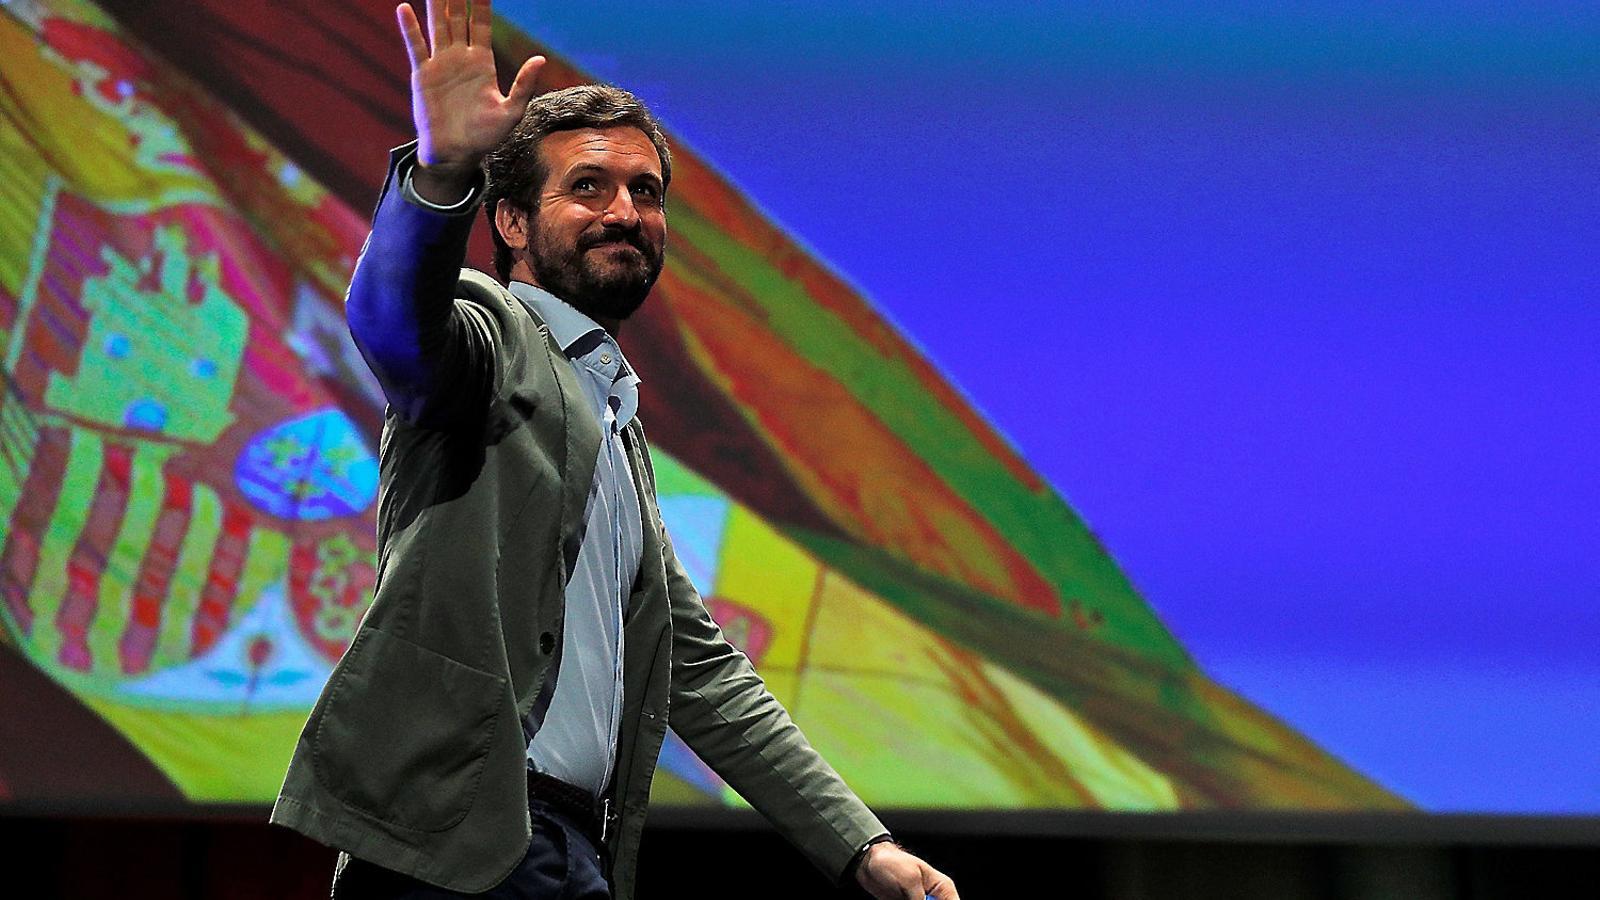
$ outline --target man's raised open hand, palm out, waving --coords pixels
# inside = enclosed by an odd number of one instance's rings
[[[411,119],[416,122],[416,187],[454,189],[459,199],[478,162],[517,125],[533,99],[544,56],[517,70],[509,94],[494,77],[488,0],[427,0],[429,38],[410,3],[395,8],[411,59]],[[429,51],[432,46],[432,51]]]

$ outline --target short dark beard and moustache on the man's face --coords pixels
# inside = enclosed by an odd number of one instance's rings
[[[637,251],[602,250],[611,261],[602,264],[590,253],[606,243],[626,243]],[[528,245],[528,264],[539,287],[565,299],[584,315],[621,322],[634,314],[661,275],[666,248],[650,247],[645,232],[634,229],[592,229],[578,237],[576,247],[552,247],[544,231]]]

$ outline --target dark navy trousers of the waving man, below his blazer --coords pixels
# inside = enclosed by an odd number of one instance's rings
[[[530,804],[533,842],[522,858],[493,889],[483,894],[458,894],[434,887],[381,866],[339,855],[333,874],[333,900],[450,900],[477,897],[482,900],[610,900],[611,886],[605,878],[605,862],[594,841],[566,815],[542,802]]]

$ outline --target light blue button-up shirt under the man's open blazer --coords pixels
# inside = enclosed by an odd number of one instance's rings
[[[566,580],[566,625],[554,692],[546,685],[523,732],[528,762],[600,796],[616,762],[622,716],[622,613],[643,548],[643,517],[622,429],[638,410],[638,375],[592,319],[533,285],[510,291],[550,328],[600,423],[600,458],[584,509],[578,559]],[[539,716],[542,713],[542,721]]]

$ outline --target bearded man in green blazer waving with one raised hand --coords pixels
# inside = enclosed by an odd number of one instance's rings
[[[274,822],[336,900],[627,898],[670,724],[824,873],[957,900],[723,637],[661,524],[616,343],[666,255],[672,157],[634,94],[501,94],[490,3],[397,10],[418,139],[346,312],[389,410],[371,610]],[[462,269],[483,208],[496,277]]]

